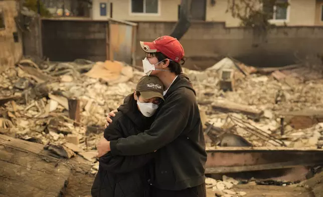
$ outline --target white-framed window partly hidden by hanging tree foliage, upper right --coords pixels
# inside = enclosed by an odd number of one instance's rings
[[[263,10],[271,20],[286,21],[289,15],[288,0],[277,0],[274,4],[271,1],[264,1]]]

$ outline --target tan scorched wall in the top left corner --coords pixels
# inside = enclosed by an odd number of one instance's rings
[[[5,28],[0,29],[0,66],[12,66],[23,55],[22,35],[15,17],[18,15],[18,1],[0,1],[0,10],[5,19]],[[18,42],[14,41],[14,32],[18,33]]]

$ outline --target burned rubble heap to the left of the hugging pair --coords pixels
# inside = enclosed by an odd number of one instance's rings
[[[107,113],[142,75],[117,61],[23,59],[0,75],[0,133],[46,144],[65,158],[77,153],[95,161]]]

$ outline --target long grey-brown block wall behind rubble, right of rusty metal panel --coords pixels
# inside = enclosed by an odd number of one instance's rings
[[[174,22],[138,22],[137,43],[153,41],[172,32]],[[190,57],[231,56],[255,66],[281,66],[294,63],[295,53],[323,54],[323,27],[276,27],[266,36],[258,36],[252,29],[227,28],[224,23],[195,22],[181,39],[188,58],[186,65],[205,68],[216,63],[194,61]],[[137,44],[137,64],[144,57]]]

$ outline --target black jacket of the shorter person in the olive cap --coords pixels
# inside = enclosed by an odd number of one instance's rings
[[[108,141],[137,135],[149,129],[152,118],[145,118],[137,110],[133,95],[129,102],[120,106],[113,122],[104,130]],[[153,152],[153,151],[152,151]],[[112,156],[111,153],[100,157],[99,171],[94,179],[92,196],[104,197],[142,197],[148,196],[147,162],[152,153],[137,156]]]

